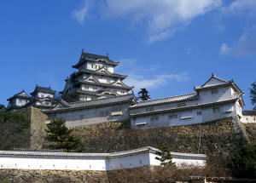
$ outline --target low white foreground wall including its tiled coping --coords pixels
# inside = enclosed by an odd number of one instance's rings
[[[0,169],[66,169],[99,170],[132,169],[142,166],[159,166],[158,149],[147,146],[140,149],[113,153],[74,152],[10,152],[0,151]],[[205,154],[172,152],[172,162],[203,167]]]

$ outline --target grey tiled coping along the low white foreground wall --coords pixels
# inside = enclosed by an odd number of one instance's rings
[[[55,158],[111,158],[111,157],[128,157],[143,152],[158,152],[159,150],[146,146],[139,149],[129,150],[125,152],[111,152],[111,153],[79,153],[79,152],[15,152],[15,151],[0,151],[0,157],[55,157]],[[207,159],[205,154],[191,154],[171,152],[172,157],[181,157],[189,159]]]

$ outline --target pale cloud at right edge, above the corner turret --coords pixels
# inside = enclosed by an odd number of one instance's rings
[[[256,31],[247,31],[232,47],[223,43],[219,52],[220,54],[231,54],[236,56],[256,54]]]

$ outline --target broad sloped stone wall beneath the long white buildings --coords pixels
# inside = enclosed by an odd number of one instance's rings
[[[235,131],[232,118],[201,125],[138,130],[122,128],[121,123],[100,123],[77,128],[74,134],[81,137],[84,152],[168,146],[172,152],[199,152],[212,156],[228,154],[246,143],[242,132]]]

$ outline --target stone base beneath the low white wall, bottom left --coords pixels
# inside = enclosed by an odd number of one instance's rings
[[[0,169],[0,181],[19,183],[105,183],[105,171]]]

